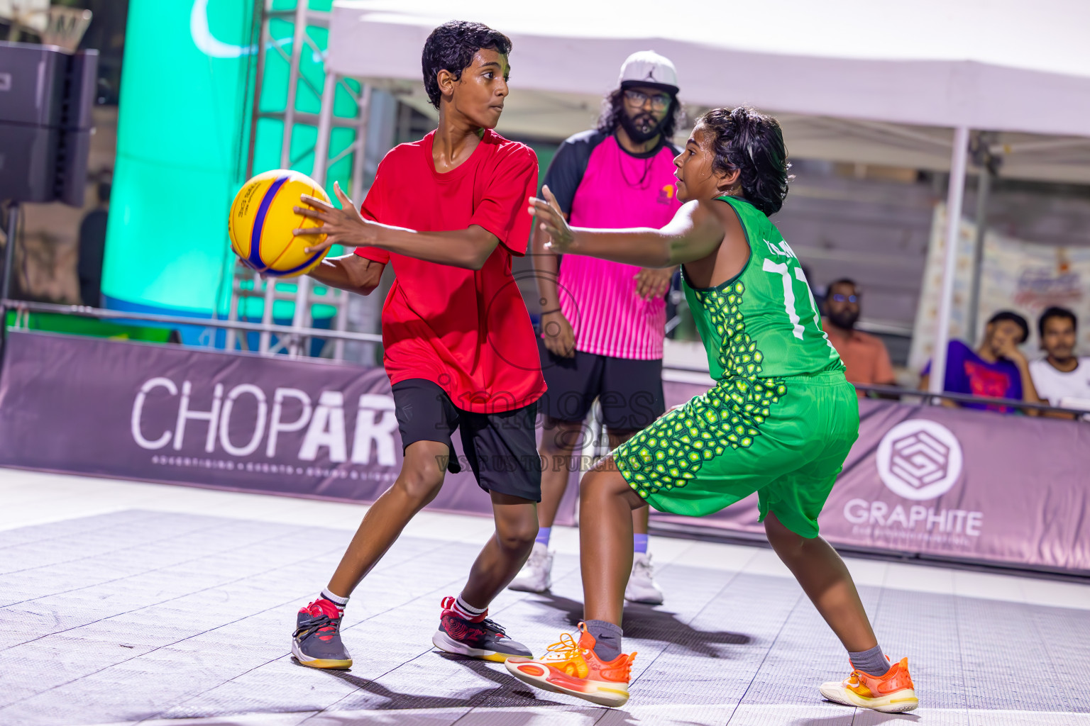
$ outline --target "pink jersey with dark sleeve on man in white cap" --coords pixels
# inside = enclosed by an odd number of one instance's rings
[[[591,147],[589,158],[586,146]],[[557,151],[545,183],[554,194],[557,186],[566,190],[565,182],[573,187],[573,194],[557,194],[561,208],[568,206],[572,226],[658,229],[681,206],[674,177],[676,155],[671,145],[662,145],[635,157],[611,135],[577,134]],[[585,171],[578,177],[580,156]],[[644,300],[637,295],[639,271],[633,264],[592,257],[561,258],[560,310],[574,330],[577,350],[639,360],[663,357],[666,300]]]

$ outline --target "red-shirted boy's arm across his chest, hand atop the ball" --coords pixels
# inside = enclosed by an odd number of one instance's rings
[[[326,235],[323,242],[307,247],[308,253],[327,249],[331,245],[378,247],[426,262],[480,270],[499,244],[499,237],[476,224],[449,232],[417,232],[372,222],[360,214],[340,184],[334,184],[334,193],[341,201],[341,209],[306,195],[301,198],[306,206],[295,207],[296,213],[322,222],[322,226],[295,230],[296,236]]]

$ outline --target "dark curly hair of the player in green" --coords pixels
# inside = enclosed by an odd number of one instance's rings
[[[795,179],[787,170],[787,148],[779,122],[751,108],[712,109],[697,119],[712,134],[715,159],[712,168],[729,174],[741,170],[742,194],[754,207],[772,217],[784,206],[787,184]]]

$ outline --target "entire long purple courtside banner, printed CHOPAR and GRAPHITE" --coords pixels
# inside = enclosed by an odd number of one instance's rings
[[[667,405],[703,391],[665,383]],[[826,539],[1090,571],[1090,423],[870,399],[860,414]],[[11,332],[0,465],[370,502],[397,478],[401,442],[382,369]],[[558,524],[573,521],[576,490]],[[491,512],[464,470],[431,506]],[[763,534],[755,497],[652,520]]]

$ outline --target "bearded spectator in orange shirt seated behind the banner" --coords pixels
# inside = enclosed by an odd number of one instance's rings
[[[882,339],[856,330],[859,320],[859,286],[847,278],[837,280],[825,293],[822,328],[840,354],[851,383],[896,385],[889,353]]]

